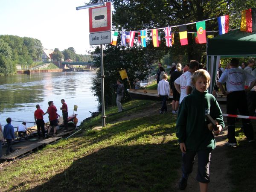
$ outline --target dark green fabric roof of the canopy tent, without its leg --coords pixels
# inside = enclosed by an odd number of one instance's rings
[[[255,57],[256,34],[242,32],[236,29],[223,35],[218,35],[215,38],[208,38],[207,55],[221,55],[221,57]]]

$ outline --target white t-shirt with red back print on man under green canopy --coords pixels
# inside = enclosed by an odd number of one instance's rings
[[[225,70],[218,81],[222,84],[227,82],[227,91],[230,92],[244,90],[244,82],[252,82],[255,79],[255,77],[244,70],[231,68]]]

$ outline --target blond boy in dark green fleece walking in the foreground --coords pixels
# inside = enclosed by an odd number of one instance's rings
[[[180,189],[185,189],[187,179],[192,172],[195,155],[198,154],[198,175],[200,191],[206,192],[209,183],[209,164],[211,152],[215,148],[215,139],[212,131],[209,131],[206,114],[210,114],[218,122],[220,133],[224,127],[221,109],[212,94],[207,88],[210,83],[210,75],[206,70],[197,70],[192,78],[195,90],[186,96],[180,104],[177,116],[177,137],[182,152],[182,177],[180,179]]]

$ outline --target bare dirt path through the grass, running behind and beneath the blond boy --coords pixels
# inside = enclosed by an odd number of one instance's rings
[[[169,114],[172,115],[172,102],[168,102],[168,110]],[[220,105],[221,110],[223,113],[226,112],[225,105]],[[145,110],[143,113],[134,113],[130,116],[124,116],[121,119],[118,119],[118,121],[125,121],[133,118],[138,117],[145,117],[145,116],[151,116],[154,114],[158,114],[160,112],[161,105],[159,102],[153,102],[152,104],[145,106]],[[224,122],[227,122],[227,119],[224,118]],[[111,122],[113,123],[113,122]],[[219,192],[221,189],[221,192],[230,192],[232,189],[232,184],[230,179],[227,177],[228,170],[230,169],[229,162],[230,159],[227,158],[226,153],[228,148],[224,146],[224,143],[227,138],[227,128],[224,128],[224,130],[221,132],[221,134],[217,137],[215,137],[216,140],[216,148],[212,151],[212,157],[211,157],[211,164],[210,164],[210,179],[211,182],[208,186],[209,192]],[[198,181],[195,179],[197,175],[197,157],[195,159],[195,163],[193,166],[193,172],[189,176],[188,185],[186,187],[186,190],[184,192],[198,192],[199,190],[199,184]],[[179,169],[179,173],[181,176],[181,169]],[[222,182],[225,181],[225,182]],[[179,191],[178,187],[179,179],[176,181],[175,191]],[[216,187],[217,186],[217,187]]]

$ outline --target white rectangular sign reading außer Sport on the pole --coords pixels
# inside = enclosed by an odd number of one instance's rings
[[[111,31],[90,33],[90,45],[110,44]]]

